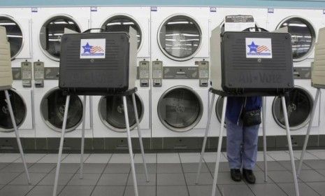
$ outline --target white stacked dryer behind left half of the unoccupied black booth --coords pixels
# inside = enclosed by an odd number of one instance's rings
[[[44,73],[44,85],[38,80],[35,87],[36,137],[60,137],[64,117],[65,96],[58,88],[61,36],[64,28],[73,31],[89,29],[89,8],[37,8],[33,20],[34,65]],[[44,71],[42,71],[44,66]],[[36,69],[34,69],[36,71]],[[82,123],[81,97],[71,97],[68,109],[66,137],[80,137]],[[86,104],[85,137],[93,137],[89,98]]]

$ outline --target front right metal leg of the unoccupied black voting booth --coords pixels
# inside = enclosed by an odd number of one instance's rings
[[[131,160],[131,170],[132,170],[131,172],[133,177],[134,195],[138,196],[138,184],[136,183],[136,168],[134,167],[130,125],[129,125],[129,114],[127,111],[127,97],[123,95],[122,99],[123,99],[123,107],[124,107],[125,126],[127,127],[127,142],[129,145],[129,154]]]

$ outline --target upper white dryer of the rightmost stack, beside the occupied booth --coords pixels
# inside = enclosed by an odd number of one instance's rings
[[[268,31],[288,27],[292,37],[294,66],[310,66],[314,59],[318,30],[323,27],[323,10],[269,9]]]

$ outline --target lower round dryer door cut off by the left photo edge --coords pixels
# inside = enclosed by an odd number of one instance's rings
[[[27,115],[27,107],[22,96],[15,90],[9,90],[10,103],[13,107],[13,115],[17,127],[20,127]],[[11,122],[6,96],[4,91],[0,91],[0,132],[12,132],[13,123]]]

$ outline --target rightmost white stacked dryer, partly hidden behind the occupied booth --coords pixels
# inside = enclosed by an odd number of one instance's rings
[[[274,31],[287,27],[292,36],[294,83],[296,87],[289,93],[289,97],[286,97],[291,135],[305,134],[306,125],[310,121],[313,100],[316,94],[316,89],[311,86],[310,64],[314,59],[314,46],[318,30],[323,26],[322,18],[322,10],[268,10],[267,29]],[[316,107],[317,111],[310,134],[319,134],[319,108],[319,106]],[[267,134],[285,135],[280,99],[278,97],[268,97],[267,110],[266,123],[269,130]],[[303,145],[303,138],[297,141],[295,137],[293,138],[294,145]]]

